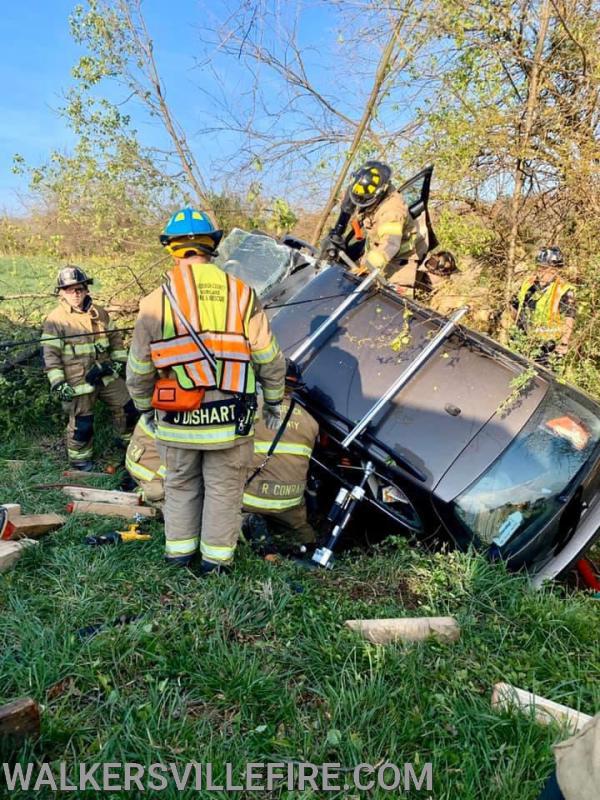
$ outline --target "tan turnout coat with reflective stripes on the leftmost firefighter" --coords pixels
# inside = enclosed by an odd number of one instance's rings
[[[127,360],[121,334],[104,308],[91,302],[80,311],[62,298],[44,322],[42,350],[50,385],[67,381],[78,395],[95,391],[85,375],[96,362]],[[103,383],[113,380],[105,376]]]

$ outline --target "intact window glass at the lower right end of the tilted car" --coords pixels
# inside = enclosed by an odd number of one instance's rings
[[[454,501],[454,513],[480,543],[503,547],[534,535],[558,510],[559,496],[587,461],[600,420],[568,395],[553,392],[517,438]]]

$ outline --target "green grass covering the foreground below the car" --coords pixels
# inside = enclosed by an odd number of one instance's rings
[[[24,456],[23,470],[0,466],[0,502],[61,510],[60,492],[32,489],[60,478],[60,448],[0,445]],[[400,541],[319,573],[242,545],[232,576],[200,580],[163,564],[159,523],[149,543],[83,543],[114,527],[69,517],[0,575],[0,702],[44,706],[40,740],[14,754],[23,762],[432,761],[436,800],[534,800],[563,732],[492,712],[492,685],[600,708],[599,605],[584,594],[533,593],[478,557]],[[122,614],[137,619],[77,635]],[[377,647],[343,626],[413,614],[455,615],[460,641]]]

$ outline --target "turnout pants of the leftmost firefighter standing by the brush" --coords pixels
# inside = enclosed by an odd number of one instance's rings
[[[94,406],[103,400],[110,408],[113,424],[124,444],[131,439],[138,413],[122,378],[115,378],[108,386],[99,386],[90,394],[82,394],[71,403],[65,403],[69,415],[67,425],[67,453],[73,462],[89,461],[94,443]]]

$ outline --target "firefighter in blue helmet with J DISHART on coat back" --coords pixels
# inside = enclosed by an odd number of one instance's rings
[[[278,427],[285,359],[255,292],[211,262],[222,232],[185,208],[161,243],[175,264],[140,303],[127,363],[136,407],[152,408],[165,476],[165,557],[201,574],[233,559],[252,461],[256,384]]]

